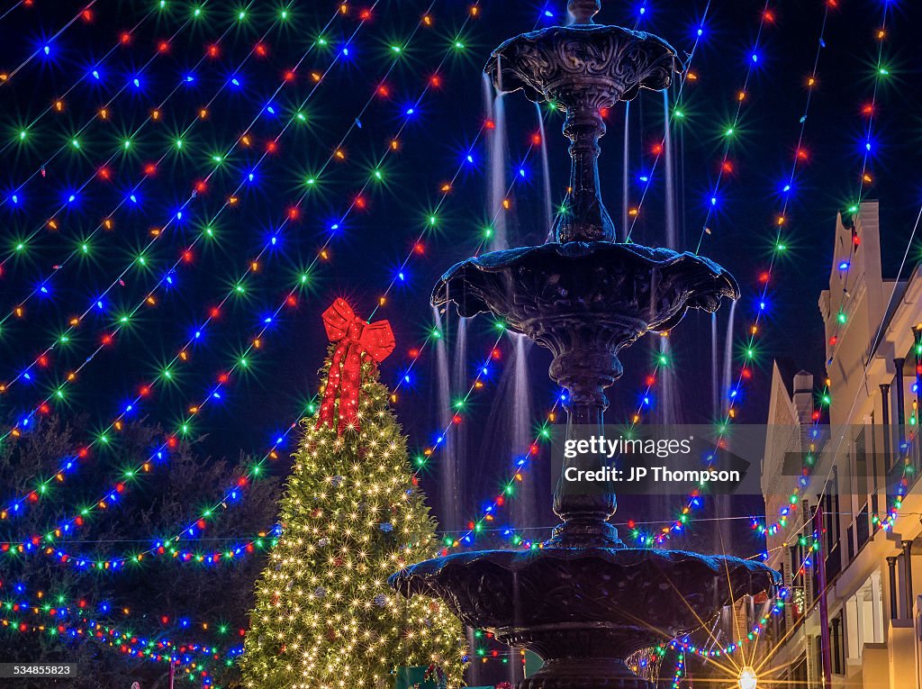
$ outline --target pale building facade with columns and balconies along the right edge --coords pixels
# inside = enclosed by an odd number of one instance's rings
[[[820,298],[828,377],[786,377],[774,366],[762,494],[769,522],[789,510],[767,550],[792,597],[770,634],[771,671],[760,687],[822,688],[825,636],[833,687],[922,689],[922,268],[914,260],[905,279],[883,279],[880,237],[876,201],[836,220]],[[813,438],[816,390],[827,386],[831,432]],[[815,465],[791,509],[798,476],[785,461],[808,454]],[[899,517],[881,529],[901,484]],[[814,539],[819,552],[810,552]]]

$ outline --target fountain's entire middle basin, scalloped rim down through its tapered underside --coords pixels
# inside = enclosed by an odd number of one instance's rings
[[[690,308],[739,298],[724,268],[701,256],[640,244],[567,242],[496,251],[458,263],[432,303],[460,315],[492,312],[554,354],[550,376],[571,392],[621,375],[618,352],[664,332]]]

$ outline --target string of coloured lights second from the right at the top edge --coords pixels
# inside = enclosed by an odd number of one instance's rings
[[[814,53],[814,57],[813,57],[813,65],[810,71],[810,77],[807,78],[807,82],[806,82],[807,83],[807,95],[806,95],[806,99],[804,103],[804,110],[803,110],[803,114],[798,120],[797,146],[794,148],[795,153],[793,157],[793,162],[791,164],[790,172],[787,175],[786,181],[784,182],[784,184],[782,184],[781,208],[777,214],[777,220],[775,222],[775,229],[774,229],[775,231],[775,241],[773,244],[774,250],[771,255],[771,259],[770,259],[768,267],[765,270],[761,271],[759,274],[759,278],[758,278],[759,283],[760,283],[760,287],[758,288],[760,290],[759,300],[757,303],[755,315],[753,316],[753,320],[751,324],[747,327],[747,341],[746,341],[746,345],[743,348],[744,362],[739,369],[739,374],[737,376],[735,385],[727,393],[728,394],[727,412],[724,416],[724,419],[722,420],[722,422],[720,422],[718,426],[718,441],[717,441],[718,443],[720,443],[725,437],[727,425],[730,422],[732,422],[733,419],[736,418],[736,410],[737,410],[737,406],[739,405],[739,398],[740,398],[739,392],[741,391],[742,386],[744,385],[744,382],[751,378],[751,374],[752,374],[751,362],[755,357],[756,336],[760,333],[762,321],[767,315],[766,309],[767,309],[767,304],[768,304],[768,289],[770,287],[772,278],[774,277],[774,269],[777,265],[778,259],[784,254],[784,251],[786,249],[786,244],[784,244],[782,240],[781,233],[783,231],[783,228],[786,226],[787,221],[789,220],[788,218],[789,204],[792,198],[793,189],[795,186],[794,182],[797,177],[797,173],[800,169],[800,166],[803,165],[806,162],[806,160],[808,160],[808,156],[805,154],[805,148],[803,144],[804,144],[804,139],[806,137],[806,125],[809,120],[810,107],[813,103],[814,87],[818,83],[820,56],[825,46],[825,33],[826,33],[826,27],[827,27],[827,20],[829,17],[829,12],[830,12],[831,7],[833,7],[833,5],[830,2],[828,2],[828,0],[826,2],[823,2],[822,22],[821,22],[819,36],[817,38],[817,48],[816,48],[816,52]],[[817,416],[817,420],[819,420],[819,416]],[[706,461],[713,461],[713,460],[714,460],[713,453],[709,457],[706,458]],[[662,529],[660,533],[657,534],[656,536],[657,542],[666,541],[672,538],[674,534],[683,532],[684,530],[683,527],[688,522],[688,519],[689,519],[688,515],[691,513],[691,509],[694,507],[700,506],[700,501],[698,500],[698,497],[699,497],[698,495],[690,496],[689,500],[686,502],[685,507],[683,507],[681,517],[676,519],[669,527]],[[787,510],[787,512],[785,515],[783,515],[783,517],[786,518],[789,511],[793,508],[794,507],[784,508],[785,510]],[[644,541],[648,541],[650,536],[648,534],[644,534],[643,531],[638,531],[637,538],[644,539]]]

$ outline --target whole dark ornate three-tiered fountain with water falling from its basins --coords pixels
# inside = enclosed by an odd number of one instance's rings
[[[567,433],[600,434],[605,388],[622,372],[618,352],[677,326],[690,308],[715,311],[739,289],[706,258],[615,242],[599,194],[601,111],[640,89],[668,88],[682,65],[656,36],[594,24],[599,0],[571,0],[569,9],[571,26],[504,42],[487,65],[498,89],[523,89],[566,114],[573,167],[565,212],[546,244],[452,267],[432,303],[499,315],[550,349],[550,377],[569,391]],[[650,689],[624,662],[632,652],[690,633],[728,601],[774,590],[775,573],[762,564],[627,548],[609,524],[613,490],[578,494],[561,479],[553,507],[562,523],[537,551],[460,552],[391,578],[401,593],[440,598],[465,624],[537,652],[545,664],[519,689]]]

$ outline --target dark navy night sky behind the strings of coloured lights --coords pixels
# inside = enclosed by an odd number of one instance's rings
[[[39,51],[0,84],[0,380],[16,379],[0,397],[0,408],[9,419],[24,418],[60,387],[65,399],[53,401],[53,409],[87,411],[102,429],[190,341],[186,361],[171,365],[166,385],[162,378],[150,385],[151,393],[135,405],[132,417],[175,429],[189,417],[190,407],[200,406],[190,434],[204,436],[204,453],[262,455],[316,391],[326,347],[322,311],[343,296],[358,313],[369,315],[392,281],[395,287],[374,318],[387,318],[394,327],[397,349],[382,371],[386,383],[396,383],[410,362],[408,350],[419,348],[432,326],[431,285],[444,269],[478,250],[494,214],[487,208],[485,177],[493,131],[478,137],[485,117],[482,65],[505,38],[561,20],[564,3],[485,0],[477,18],[469,18],[470,2],[380,0],[362,22],[361,12],[372,2],[349,3],[348,13],[336,18],[338,3],[294,2],[289,17],[280,20],[282,6],[275,2],[168,2],[160,9],[151,2],[100,0],[89,18],[77,18],[53,41],[83,4],[35,0],[0,19],[0,70],[8,73]],[[6,0],[0,15],[12,4]],[[597,20],[628,27],[639,21],[640,29],[689,52],[706,4],[607,2]],[[740,412],[743,422],[763,420],[774,357],[822,375],[816,304],[828,282],[835,215],[855,200],[859,188],[868,123],[862,109],[874,90],[884,7],[869,0],[830,4],[803,143],[807,160],[798,167],[787,213],[789,249],[770,285],[756,370]],[[202,7],[199,17],[196,6]],[[881,201],[884,272],[892,275],[919,204],[922,64],[915,27],[922,7],[909,0],[890,7],[884,43],[888,74],[879,80],[868,168],[872,182],[863,194]],[[430,22],[421,22],[430,8]],[[771,2],[771,20],[762,23],[754,48],[763,8],[757,0],[709,4],[691,62],[694,78],[682,89],[686,116],[675,128],[678,248],[693,251],[738,93],[751,69],[728,157],[733,172],[720,184],[708,222],[711,233],[701,248],[739,279],[742,299],[733,336],[738,343],[758,301],[757,277],[771,256],[824,3]],[[124,32],[130,33],[123,37]],[[315,44],[318,36],[325,44]],[[293,77],[286,78],[299,60]],[[312,73],[322,77],[319,83]],[[677,82],[672,93],[678,91]],[[63,101],[60,112],[56,99]],[[547,228],[541,162],[533,145],[536,110],[521,94],[508,96],[506,108],[504,179],[515,180],[511,208],[503,211],[509,238],[514,245],[538,244]],[[640,177],[649,172],[653,148],[662,138],[662,96],[644,92],[632,102],[631,113],[630,184],[636,204],[644,187]],[[623,106],[609,113],[608,124],[602,186],[619,223]],[[546,126],[555,206],[568,180],[560,125],[561,116],[551,113]],[[443,184],[455,172],[445,195]],[[637,220],[635,242],[665,242],[663,172],[661,160]],[[432,209],[439,206],[431,222]],[[102,224],[107,219],[111,229]],[[424,238],[416,252],[420,233]],[[315,261],[290,303],[289,292],[324,246],[326,257]],[[400,279],[396,273],[408,255]],[[910,256],[915,262],[916,252]],[[152,290],[153,303],[144,303]],[[24,302],[23,315],[14,314]],[[77,327],[67,331],[70,320],[84,312]],[[719,316],[721,349],[727,312],[725,306]],[[254,336],[264,327],[255,347]],[[451,316],[445,328],[450,341],[455,327]],[[108,343],[106,336],[116,330]],[[68,341],[54,347],[45,365],[27,369],[65,331]],[[489,320],[470,324],[468,381],[495,337]],[[690,315],[672,342],[681,419],[713,420],[710,316]],[[244,366],[239,360],[248,348]],[[514,344],[503,339],[500,349],[486,385],[463,412],[472,477],[460,500],[462,513],[471,517],[508,473],[514,454],[512,448],[500,449],[506,429],[497,421],[513,395],[503,371]],[[638,344],[622,357],[626,373],[611,390],[609,422],[624,421],[635,408],[652,365],[651,351],[650,344]],[[412,447],[431,444],[438,431],[436,361],[428,345],[399,394],[396,408]],[[537,423],[555,390],[545,374],[550,357],[536,348],[528,361]],[[202,405],[235,362],[220,398],[212,396]],[[82,364],[76,380],[66,382],[68,372]],[[656,407],[656,388],[653,396]],[[538,462],[533,484],[542,504],[550,492],[545,465]],[[279,467],[287,469],[285,457]],[[436,514],[439,478],[436,457],[424,482]],[[648,509],[620,517],[664,514]],[[551,523],[547,514],[530,518],[531,526]]]

